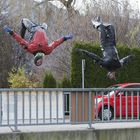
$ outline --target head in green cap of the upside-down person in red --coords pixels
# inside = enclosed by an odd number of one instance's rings
[[[37,53],[34,58],[34,63],[36,66],[42,65],[44,53]]]

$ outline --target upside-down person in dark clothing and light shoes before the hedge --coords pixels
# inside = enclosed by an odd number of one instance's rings
[[[115,30],[113,25],[102,23],[100,19],[97,21],[92,20],[92,24],[93,27],[99,31],[103,57],[101,58],[98,55],[83,49],[78,49],[78,51],[91,57],[95,63],[99,64],[108,71],[107,76],[110,79],[115,80],[115,71],[121,68],[124,64],[128,63],[133,55],[128,55],[122,59],[119,59],[118,51],[116,49]]]

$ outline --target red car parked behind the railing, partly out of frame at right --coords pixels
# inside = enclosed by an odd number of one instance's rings
[[[121,88],[140,88],[140,83],[123,83],[113,85],[111,90],[97,96],[95,99],[96,114],[101,120],[116,118],[139,118],[140,116],[140,90],[120,91]],[[109,102],[108,102],[109,101]],[[103,114],[103,115],[102,115]]]

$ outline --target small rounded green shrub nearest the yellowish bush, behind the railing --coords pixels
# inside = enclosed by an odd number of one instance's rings
[[[51,73],[45,74],[43,88],[56,88],[56,80]]]

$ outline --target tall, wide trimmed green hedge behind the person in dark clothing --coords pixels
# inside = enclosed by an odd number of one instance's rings
[[[82,86],[82,72],[81,61],[85,59],[85,87],[108,87],[117,83],[126,82],[140,82],[140,48],[130,49],[127,46],[117,45],[119,57],[125,57],[129,54],[134,54],[135,57],[125,66],[118,69],[116,72],[116,81],[107,78],[107,71],[95,64],[94,61],[76,51],[78,48],[85,49],[90,52],[94,52],[102,57],[102,51],[99,44],[92,42],[76,42],[72,50],[72,63],[71,63],[71,84],[74,88],[80,88]]]

